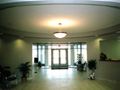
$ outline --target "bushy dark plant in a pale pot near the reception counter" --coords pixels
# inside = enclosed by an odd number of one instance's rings
[[[88,68],[91,71],[90,79],[95,79],[95,70],[96,70],[96,60],[89,60],[88,61]]]

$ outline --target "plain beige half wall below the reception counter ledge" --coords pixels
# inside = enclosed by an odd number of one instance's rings
[[[120,62],[99,61],[97,78],[111,82],[120,82]]]

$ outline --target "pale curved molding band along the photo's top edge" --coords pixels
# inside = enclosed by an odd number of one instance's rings
[[[22,6],[22,5],[52,5],[52,4],[66,4],[66,5],[103,5],[120,8],[120,0],[1,0],[0,9]]]

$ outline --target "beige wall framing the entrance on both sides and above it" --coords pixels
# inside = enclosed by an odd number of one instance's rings
[[[30,61],[32,63],[32,43],[40,42],[86,42],[87,59],[99,61],[100,38],[90,39],[26,39],[18,37],[0,37],[0,65],[8,65],[15,71],[20,63]],[[97,71],[99,73],[99,71]]]

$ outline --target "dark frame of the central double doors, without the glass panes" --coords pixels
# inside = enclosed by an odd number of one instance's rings
[[[59,65],[55,66],[53,63],[53,51],[54,50],[59,50]],[[60,50],[65,50],[66,51],[66,64],[61,64],[61,58],[60,58]],[[68,69],[68,49],[52,49],[51,50],[51,68],[52,69]]]

